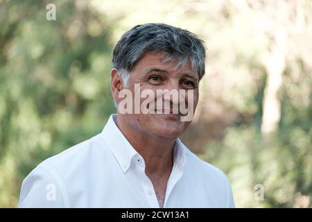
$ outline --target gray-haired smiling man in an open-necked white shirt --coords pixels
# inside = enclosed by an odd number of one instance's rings
[[[19,206],[234,207],[224,173],[179,139],[205,74],[202,41],[166,24],[135,26],[116,44],[112,62],[117,114],[102,133],[39,164],[22,184]],[[149,96],[135,96],[138,86]]]

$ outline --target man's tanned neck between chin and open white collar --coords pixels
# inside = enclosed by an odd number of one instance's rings
[[[175,139],[142,133],[117,115],[116,125],[135,150],[144,158],[146,174],[162,175],[173,167]]]

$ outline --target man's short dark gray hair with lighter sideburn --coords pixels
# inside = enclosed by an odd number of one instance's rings
[[[165,53],[164,62],[174,62],[177,67],[190,61],[199,79],[205,75],[205,46],[197,35],[167,24],[143,24],[124,33],[114,48],[113,67],[118,69],[125,87],[131,71],[151,51]]]

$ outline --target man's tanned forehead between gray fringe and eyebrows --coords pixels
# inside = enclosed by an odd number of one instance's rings
[[[168,72],[188,72],[196,74],[196,69],[193,69],[191,66],[191,62],[187,61],[187,63],[180,67],[175,62],[164,62],[164,58],[166,57],[166,53],[161,52],[150,52],[146,53],[146,55],[139,60],[137,66],[133,71],[144,72],[150,68],[160,68],[166,69]]]

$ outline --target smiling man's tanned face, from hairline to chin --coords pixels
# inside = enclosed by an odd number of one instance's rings
[[[144,89],[150,89],[154,92],[155,97],[149,99],[149,105],[155,105],[155,114],[123,114],[123,119],[141,133],[148,133],[151,135],[158,135],[161,137],[179,137],[184,130],[187,129],[191,120],[181,121],[182,114],[173,114],[173,108],[179,107],[179,104],[184,101],[184,105],[189,107],[189,103],[193,103],[193,110],[195,112],[198,103],[198,72],[192,69],[189,62],[184,67],[177,67],[172,62],[163,62],[164,53],[147,53],[146,56],[139,60],[137,66],[130,74],[128,82],[128,89],[135,95],[135,85],[140,86],[140,92]],[[157,94],[157,89],[176,90],[180,96],[181,90],[184,89],[185,96],[183,99],[173,98],[173,96],[164,96],[164,94]],[[189,99],[188,91],[193,91],[193,99]],[[190,92],[191,92],[190,91]],[[159,92],[159,90],[158,90]],[[172,91],[173,92],[173,91]],[[168,94],[167,94],[168,95]],[[182,94],[181,94],[182,95]],[[135,96],[133,96],[133,99]],[[141,103],[146,98],[140,99]],[[162,103],[162,109],[157,108],[157,102]],[[165,108],[164,104],[170,104],[169,110]],[[135,102],[133,102],[135,106]],[[152,107],[152,106],[150,106]],[[153,106],[154,107],[154,106]],[[168,108],[168,106],[166,106]],[[153,108],[154,109],[154,108]],[[168,113],[171,112],[171,113]],[[120,113],[119,113],[120,114]],[[193,113],[191,114],[193,116]]]

